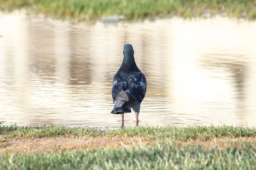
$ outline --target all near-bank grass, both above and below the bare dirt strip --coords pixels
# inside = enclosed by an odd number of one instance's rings
[[[0,126],[0,137],[57,136],[149,137],[152,144],[111,149],[84,149],[37,154],[2,153],[2,170],[254,170],[256,144],[252,141],[226,141],[226,148],[207,149],[187,140],[205,141],[215,137],[255,137],[256,128],[240,126],[140,126],[104,131],[67,126]],[[182,141],[183,143],[181,144]],[[0,141],[1,142],[1,141]],[[1,147],[1,146],[0,146]],[[4,147],[4,145],[2,146]]]

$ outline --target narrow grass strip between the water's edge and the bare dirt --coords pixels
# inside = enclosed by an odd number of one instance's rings
[[[120,136],[120,137],[151,137],[173,138],[175,140],[186,141],[189,139],[207,140],[220,136],[232,137],[255,137],[256,128],[242,126],[187,126],[187,127],[154,127],[139,126],[136,128],[124,128],[112,131],[99,130],[97,128],[72,128],[68,126],[0,126],[0,134],[6,134],[10,137],[57,137],[63,135],[73,136]]]

